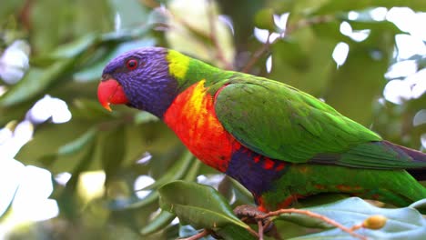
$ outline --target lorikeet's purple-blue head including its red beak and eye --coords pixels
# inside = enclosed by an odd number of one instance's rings
[[[97,88],[101,105],[129,105],[162,117],[177,95],[177,79],[170,75],[168,50],[145,47],[119,55],[104,68]]]

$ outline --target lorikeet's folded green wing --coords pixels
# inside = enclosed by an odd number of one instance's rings
[[[219,88],[220,85],[225,85]],[[330,105],[289,85],[235,73],[211,85],[218,120],[242,145],[291,163],[364,168],[424,166]]]

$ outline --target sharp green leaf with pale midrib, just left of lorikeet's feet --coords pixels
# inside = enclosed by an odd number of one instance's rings
[[[217,231],[226,225],[249,228],[236,215],[223,196],[211,186],[175,181],[158,189],[160,206],[176,214],[182,224]]]

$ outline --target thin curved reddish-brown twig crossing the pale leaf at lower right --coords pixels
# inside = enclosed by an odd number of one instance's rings
[[[321,221],[324,221],[324,222],[326,222],[329,225],[333,225],[333,226],[335,226],[337,228],[340,228],[340,230],[342,230],[342,231],[344,231],[344,232],[346,232],[346,233],[348,233],[348,234],[350,234],[350,235],[352,235],[354,237],[358,237],[358,238],[363,239],[363,240],[367,239],[367,237],[365,237],[363,235],[359,235],[359,234],[353,232],[353,230],[350,229],[349,227],[346,227],[344,225],[340,225],[338,222],[334,221],[333,219],[330,219],[329,217],[327,217],[325,215],[319,215],[319,214],[310,212],[308,210],[300,210],[300,209],[295,209],[295,208],[279,209],[279,210],[274,211],[274,212],[269,212],[266,215],[261,215],[261,216],[259,216],[259,219],[263,219],[263,218],[274,216],[274,215],[281,215],[281,214],[308,215],[308,216],[313,217],[313,218],[318,218]]]

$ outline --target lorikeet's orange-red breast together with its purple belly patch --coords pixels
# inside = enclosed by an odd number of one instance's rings
[[[163,120],[204,164],[232,176],[259,196],[287,165],[241,145],[218,121],[214,102],[200,81],[177,95]]]

